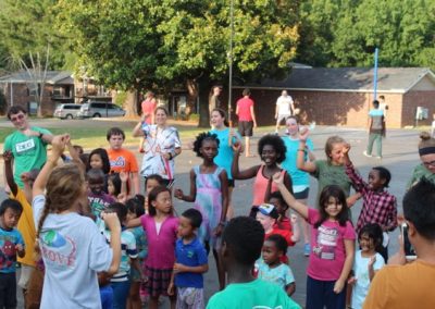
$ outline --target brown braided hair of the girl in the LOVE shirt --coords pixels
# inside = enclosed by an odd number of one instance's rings
[[[75,164],[65,164],[51,172],[46,189],[46,203],[38,222],[36,239],[39,239],[40,233],[44,232],[42,226],[47,215],[69,210],[84,195],[85,176]],[[38,247],[36,249],[39,251]]]

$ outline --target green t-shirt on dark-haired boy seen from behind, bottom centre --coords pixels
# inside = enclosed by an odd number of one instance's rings
[[[229,284],[224,291],[214,294],[207,305],[207,309],[226,308],[300,309],[301,307],[289,298],[279,286],[257,279],[249,283]]]

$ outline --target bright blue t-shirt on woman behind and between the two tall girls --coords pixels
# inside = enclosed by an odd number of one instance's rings
[[[210,133],[217,135],[219,139],[219,149],[217,156],[214,158],[214,163],[224,168],[226,174],[228,175],[228,180],[233,180],[233,175],[231,173],[231,166],[233,164],[233,147],[228,146],[228,136],[229,136],[229,127],[225,129],[211,129]],[[237,139],[241,140],[241,137],[238,133],[235,133],[237,138],[233,137],[232,144],[234,144]]]

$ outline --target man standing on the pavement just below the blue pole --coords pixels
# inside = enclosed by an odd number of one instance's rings
[[[384,111],[380,109],[380,102],[373,101],[373,109],[369,112],[369,144],[363,152],[365,157],[372,157],[373,144],[376,143],[376,158],[382,159],[382,136],[385,136]]]

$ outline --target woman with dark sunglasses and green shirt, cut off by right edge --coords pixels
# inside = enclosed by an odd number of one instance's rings
[[[408,182],[408,189],[425,177],[435,184],[435,138],[431,137],[427,132],[420,134],[419,154],[421,163],[412,171],[412,177]]]

